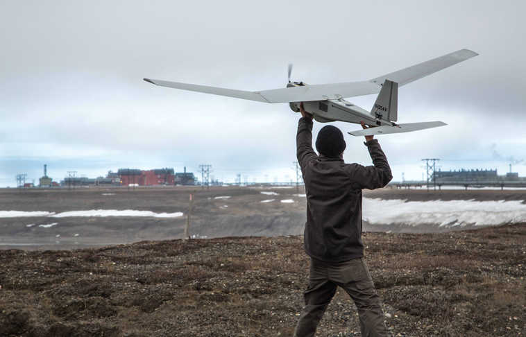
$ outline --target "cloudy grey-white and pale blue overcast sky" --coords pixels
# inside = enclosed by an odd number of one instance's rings
[[[479,56],[400,87],[400,123],[448,126],[379,137],[394,180],[441,168],[526,175],[525,1],[0,0],[0,186],[95,178],[121,167],[233,182],[295,179],[299,114],[155,87],[142,78],[259,90],[368,80],[458,49]],[[370,110],[375,95],[349,98]],[[324,124],[314,124],[314,137]],[[359,126],[346,162],[371,164]]]

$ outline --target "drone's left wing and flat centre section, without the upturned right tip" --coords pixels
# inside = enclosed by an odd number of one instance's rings
[[[220,87],[208,87],[206,85],[193,85],[188,83],[169,82],[167,80],[151,80],[144,78],[146,82],[161,87],[190,90],[192,92],[204,92],[221,96],[243,98],[251,101],[266,103],[289,103],[324,101],[326,99],[337,99],[343,97],[362,96],[380,92],[380,87],[368,81],[332,83],[324,85],[304,85],[303,87],[289,87],[260,92],[247,92],[244,90],[225,89]]]

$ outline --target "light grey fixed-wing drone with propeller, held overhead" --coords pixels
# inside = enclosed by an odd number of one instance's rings
[[[203,92],[205,94],[229,96],[264,103],[289,103],[291,110],[294,112],[300,111],[299,106],[303,102],[305,111],[312,114],[314,119],[321,123],[344,121],[360,124],[364,121],[366,125],[374,126],[373,128],[348,132],[350,135],[385,135],[446,126],[447,124],[442,121],[397,124],[398,87],[412,83],[414,80],[446,69],[477,55],[479,54],[469,49],[461,49],[439,58],[373,78],[372,80],[322,85],[307,85],[301,81],[291,81],[292,64],[289,64],[289,82],[287,87],[259,92],[169,82],[166,80],[152,80],[149,78],[144,78],[144,80],[161,87]],[[343,99],[368,94],[378,94],[371,112]]]

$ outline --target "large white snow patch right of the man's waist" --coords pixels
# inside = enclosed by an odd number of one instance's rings
[[[501,225],[526,221],[526,205],[521,200],[409,201],[363,199],[363,217],[371,224],[436,225],[464,227]]]

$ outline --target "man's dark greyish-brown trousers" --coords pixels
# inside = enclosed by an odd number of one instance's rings
[[[364,259],[328,263],[310,261],[309,286],[304,293],[305,308],[294,331],[295,337],[312,337],[325,309],[341,286],[355,301],[363,337],[386,336],[384,314],[373,279]]]

